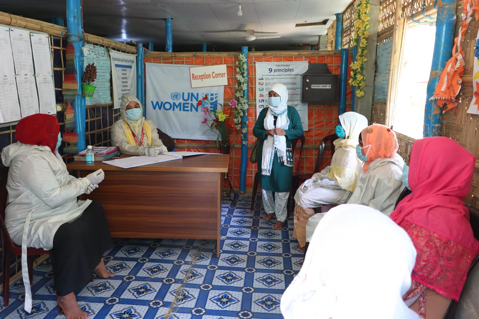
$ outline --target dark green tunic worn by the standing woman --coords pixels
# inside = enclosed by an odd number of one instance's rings
[[[258,120],[253,127],[253,134],[258,139],[264,141],[267,137],[266,130],[264,129],[264,117],[266,116],[267,109],[261,111],[258,116]],[[286,147],[291,147],[291,140],[303,135],[303,125],[301,125],[301,119],[297,110],[288,106],[288,118],[289,126],[286,132]],[[261,188],[265,190],[271,190],[274,192],[285,193],[291,190],[291,176],[293,175],[293,167],[285,166],[283,162],[278,161],[278,154],[274,152],[273,167],[271,168],[271,175],[262,175],[262,154],[263,143],[260,143],[260,149],[258,151],[258,172],[260,174]]]

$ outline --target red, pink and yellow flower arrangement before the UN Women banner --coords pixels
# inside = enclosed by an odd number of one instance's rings
[[[202,106],[201,110],[203,114],[209,116],[209,119],[205,117],[205,119],[201,121],[203,124],[206,124],[209,127],[205,132],[211,131],[217,135],[217,147],[220,147],[219,139],[221,138],[221,153],[229,154],[229,135],[235,129],[235,125],[230,121],[230,114],[224,113],[223,105],[220,103],[218,103],[218,105],[221,106],[221,110],[210,110],[211,103],[208,101],[207,95],[198,101],[198,106]],[[236,105],[236,101],[232,99],[229,105]]]

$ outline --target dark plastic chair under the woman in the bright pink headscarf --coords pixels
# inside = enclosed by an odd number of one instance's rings
[[[466,205],[469,209],[469,221],[471,223],[472,231],[474,232],[474,237],[479,240],[479,210],[475,207]],[[464,288],[462,289],[461,297],[459,302],[451,300],[449,308],[444,315],[444,319],[469,319],[474,318],[471,315],[477,314],[477,290],[479,284],[479,256],[471,264],[468,270],[468,277]],[[470,307],[475,307],[471,313]]]

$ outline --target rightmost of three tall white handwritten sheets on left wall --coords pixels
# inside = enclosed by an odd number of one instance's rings
[[[30,41],[32,43],[40,113],[55,114],[57,112],[57,101],[53,83],[50,38],[47,34],[30,33]]]

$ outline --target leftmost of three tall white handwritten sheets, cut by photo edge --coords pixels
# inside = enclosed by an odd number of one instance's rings
[[[10,28],[0,26],[0,122],[21,119],[15,67],[11,53]]]

